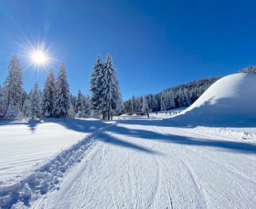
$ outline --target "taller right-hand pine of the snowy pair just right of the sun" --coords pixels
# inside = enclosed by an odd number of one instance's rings
[[[68,78],[65,71],[65,64],[60,64],[60,72],[55,84],[55,91],[53,96],[53,115],[56,118],[64,118],[68,114],[70,107],[70,91],[68,85]]]

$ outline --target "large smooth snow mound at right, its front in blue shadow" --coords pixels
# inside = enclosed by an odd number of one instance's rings
[[[256,74],[231,74],[216,81],[171,121],[178,125],[256,125]]]

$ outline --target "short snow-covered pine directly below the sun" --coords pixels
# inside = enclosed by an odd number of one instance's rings
[[[38,82],[34,85],[31,96],[30,96],[30,105],[31,105],[31,117],[40,118],[42,113],[42,102],[41,102],[41,94],[38,89]]]

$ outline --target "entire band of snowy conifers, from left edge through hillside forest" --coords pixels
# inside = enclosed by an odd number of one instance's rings
[[[247,67],[240,73],[256,73],[256,67]],[[132,96],[122,101],[117,72],[110,55],[105,62],[97,57],[90,75],[90,96],[78,91],[70,94],[65,64],[55,79],[50,69],[41,91],[36,82],[30,92],[23,90],[23,73],[17,55],[9,62],[8,76],[0,85],[0,118],[73,118],[102,115],[112,119],[120,113],[169,111],[172,108],[190,106],[210,85],[221,77],[198,79],[174,86],[158,94]]]

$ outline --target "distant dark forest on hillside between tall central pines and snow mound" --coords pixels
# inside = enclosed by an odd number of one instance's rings
[[[146,94],[144,96],[132,96],[124,101],[124,113],[169,111],[173,108],[188,107],[203,94],[220,77],[198,79],[174,86],[158,94]]]

